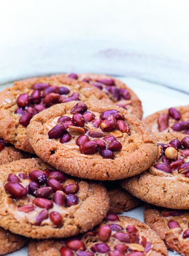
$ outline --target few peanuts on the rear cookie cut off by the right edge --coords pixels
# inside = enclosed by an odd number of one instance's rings
[[[169,127],[170,118],[178,121],[171,126],[173,131],[182,131],[184,134],[189,134],[189,120],[179,121],[181,119],[181,113],[173,107],[168,110],[167,114],[162,114],[158,117],[159,131],[165,131]]]

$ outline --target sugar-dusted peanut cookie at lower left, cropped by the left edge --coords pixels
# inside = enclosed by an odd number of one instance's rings
[[[0,205],[0,226],[31,238],[86,232],[109,210],[103,185],[68,177],[41,159],[0,166]]]

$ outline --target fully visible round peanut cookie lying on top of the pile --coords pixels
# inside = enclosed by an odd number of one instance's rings
[[[85,179],[123,179],[148,169],[157,155],[148,126],[115,105],[86,104],[57,104],[35,115],[27,127],[35,153]]]

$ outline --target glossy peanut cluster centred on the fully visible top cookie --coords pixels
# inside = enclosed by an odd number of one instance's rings
[[[74,105],[71,109],[73,116],[60,117],[58,124],[48,132],[49,139],[60,139],[61,143],[68,143],[77,137],[75,143],[81,153],[91,155],[99,151],[103,158],[114,159],[113,152],[122,149],[116,137],[122,137],[123,133],[130,134],[123,113],[110,109],[101,113],[100,118],[95,118],[95,114],[87,109],[83,102]]]

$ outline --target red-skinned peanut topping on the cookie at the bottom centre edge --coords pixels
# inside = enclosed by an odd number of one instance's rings
[[[99,241],[100,240],[100,241]],[[60,241],[61,256],[145,256],[151,243],[132,225],[123,226],[115,214],[108,214],[104,223],[76,238]]]

